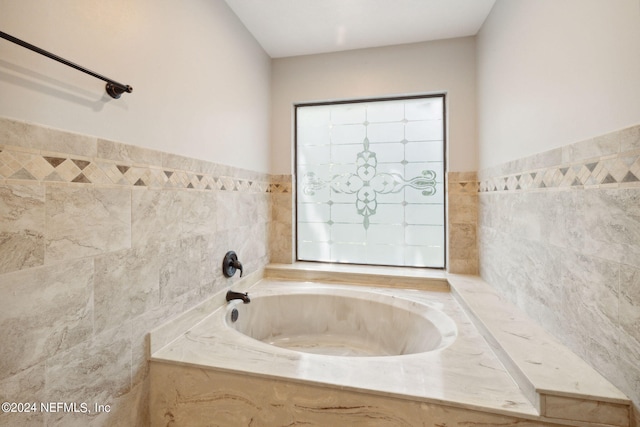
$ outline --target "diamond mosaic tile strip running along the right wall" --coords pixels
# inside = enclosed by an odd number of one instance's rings
[[[638,151],[593,159],[584,163],[491,177],[480,182],[478,191],[526,191],[620,185],[640,187],[640,153]]]

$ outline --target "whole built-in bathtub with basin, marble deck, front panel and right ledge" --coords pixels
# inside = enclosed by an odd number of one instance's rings
[[[629,426],[619,390],[479,278],[288,268],[313,281],[258,278],[249,304],[219,294],[151,333],[152,426]]]

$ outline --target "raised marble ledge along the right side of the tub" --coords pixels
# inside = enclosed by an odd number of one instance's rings
[[[575,353],[479,277],[449,275],[457,301],[538,412],[548,418],[625,425],[630,401]]]

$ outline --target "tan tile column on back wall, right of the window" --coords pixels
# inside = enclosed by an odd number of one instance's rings
[[[447,172],[447,271],[478,274],[478,175]]]

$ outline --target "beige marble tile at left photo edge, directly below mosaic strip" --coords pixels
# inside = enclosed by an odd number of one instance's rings
[[[45,190],[0,185],[0,274],[44,264]]]

